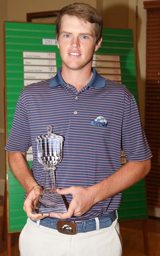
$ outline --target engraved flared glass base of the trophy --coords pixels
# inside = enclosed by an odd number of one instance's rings
[[[56,189],[44,189],[37,197],[33,213],[61,213],[67,212],[62,196]]]

